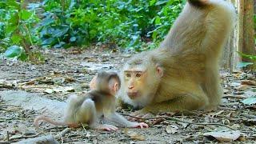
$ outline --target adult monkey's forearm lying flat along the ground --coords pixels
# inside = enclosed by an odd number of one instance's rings
[[[207,105],[208,98],[203,92],[200,94],[183,94],[169,101],[152,103],[132,115],[142,117],[145,114],[156,114],[159,111],[175,112],[183,110],[200,110]]]

